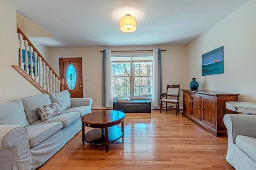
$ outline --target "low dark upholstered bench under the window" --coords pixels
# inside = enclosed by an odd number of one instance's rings
[[[130,100],[129,102],[113,102],[113,110],[124,113],[151,113],[150,100]]]

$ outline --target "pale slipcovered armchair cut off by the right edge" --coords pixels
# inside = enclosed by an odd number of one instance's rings
[[[256,115],[226,114],[226,160],[236,170],[256,170]]]

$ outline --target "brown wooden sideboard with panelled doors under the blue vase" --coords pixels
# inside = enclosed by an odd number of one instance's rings
[[[225,114],[236,112],[226,109],[226,102],[237,102],[239,94],[209,90],[182,91],[182,115],[195,121],[215,136],[227,136],[223,117]]]

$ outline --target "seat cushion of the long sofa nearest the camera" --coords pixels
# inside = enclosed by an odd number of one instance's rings
[[[62,123],[43,123],[39,125],[29,125],[26,128],[28,129],[30,148],[32,148],[53,135],[54,133],[58,132],[62,128]]]

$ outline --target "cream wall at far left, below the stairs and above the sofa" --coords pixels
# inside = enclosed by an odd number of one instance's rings
[[[18,64],[16,9],[3,0],[0,0],[0,27],[0,102],[40,94],[11,66]]]

